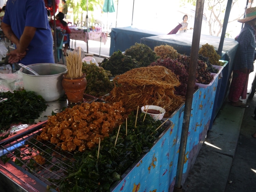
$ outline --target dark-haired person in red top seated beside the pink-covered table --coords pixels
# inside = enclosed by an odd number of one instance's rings
[[[68,27],[67,22],[63,20],[64,17],[65,17],[65,15],[62,12],[59,12],[56,15],[56,28],[60,27],[61,29],[66,30],[66,33],[69,34],[71,31]],[[51,26],[54,25],[53,20],[49,21],[49,23],[51,24]],[[64,36],[63,41],[67,41],[67,36]],[[69,44],[66,43],[65,46],[64,46],[64,49],[63,49],[63,53],[64,53],[65,56],[67,55],[68,46],[69,46]]]

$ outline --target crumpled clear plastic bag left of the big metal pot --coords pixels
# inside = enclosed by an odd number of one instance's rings
[[[16,73],[2,74],[0,73],[0,92],[13,92],[24,89],[23,78]]]

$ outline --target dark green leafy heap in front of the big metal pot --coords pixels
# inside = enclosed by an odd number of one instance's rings
[[[0,92],[0,98],[8,98],[0,103],[0,131],[11,123],[33,123],[47,108],[42,96],[31,91]]]

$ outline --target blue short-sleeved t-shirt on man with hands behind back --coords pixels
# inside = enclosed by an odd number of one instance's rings
[[[18,39],[25,26],[37,28],[27,55],[20,61],[24,65],[55,63],[53,57],[53,35],[49,26],[44,0],[10,0],[6,3],[3,22],[10,25]]]

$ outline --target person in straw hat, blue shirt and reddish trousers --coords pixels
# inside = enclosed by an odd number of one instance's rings
[[[230,85],[228,99],[231,105],[237,107],[249,107],[242,103],[239,98],[246,99],[247,85],[250,72],[253,72],[254,54],[255,54],[255,36],[254,28],[256,25],[256,7],[245,10],[245,18],[239,19],[238,22],[244,23],[237,41],[239,47],[236,53],[233,66],[233,77]]]

